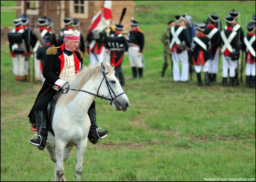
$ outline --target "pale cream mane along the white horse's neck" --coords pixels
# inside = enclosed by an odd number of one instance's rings
[[[112,75],[115,73],[114,68],[112,66],[110,66],[107,63],[104,64],[108,69],[108,74],[106,75],[106,77],[108,77],[108,75]],[[80,72],[75,75],[74,81],[70,82],[70,88],[80,90],[86,84],[86,82],[88,82],[88,80],[95,78],[100,74],[102,74],[101,65],[83,65],[82,69],[80,69]],[[66,94],[61,94],[60,99],[58,100],[60,106],[67,105],[67,103],[71,102],[78,93],[78,91],[68,90]]]

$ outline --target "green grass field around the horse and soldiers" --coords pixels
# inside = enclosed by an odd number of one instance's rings
[[[190,82],[174,82],[170,67],[161,77],[160,38],[169,19],[186,12],[201,22],[216,13],[224,25],[232,8],[241,13],[247,33],[255,1],[135,1],[135,20],[145,34],[144,78],[129,79],[125,56],[123,89],[130,108],[116,112],[95,99],[97,124],[109,133],[96,145],[88,143],[82,181],[255,181],[256,90],[246,88],[245,74],[239,86],[222,88],[220,58],[211,87],[198,87],[195,73]],[[29,144],[34,132],[27,115],[40,85],[15,82],[8,44],[1,43],[1,181],[53,181],[47,150]],[[74,149],[64,163],[67,181],[76,180],[75,164]]]

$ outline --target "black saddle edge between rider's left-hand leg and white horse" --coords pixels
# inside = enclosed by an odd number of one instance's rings
[[[54,115],[55,105],[57,103],[57,100],[59,99],[61,95],[61,89],[57,91],[57,93],[54,95],[54,98],[52,101],[49,101],[47,106],[47,112],[46,112],[46,124],[47,124],[47,130],[49,130],[53,136],[54,136],[54,130],[52,127],[52,119]]]

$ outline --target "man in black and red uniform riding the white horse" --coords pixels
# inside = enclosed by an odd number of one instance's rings
[[[47,50],[42,72],[46,80],[28,115],[30,123],[32,126],[36,125],[38,132],[38,138],[32,138],[30,144],[38,146],[40,150],[44,150],[48,136],[47,123],[44,119],[48,103],[53,100],[59,89],[63,91],[69,88],[69,82],[74,80],[83,64],[83,54],[76,50],[80,42],[80,31],[64,31],[64,35],[64,43],[60,47]],[[91,143],[96,144],[99,138],[107,136],[108,130],[98,131],[95,101],[90,106],[88,115],[91,121],[88,139]]]

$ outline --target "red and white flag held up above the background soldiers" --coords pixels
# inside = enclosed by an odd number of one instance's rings
[[[89,30],[104,30],[112,19],[112,0],[104,0],[101,10],[93,17]]]

